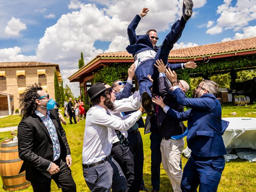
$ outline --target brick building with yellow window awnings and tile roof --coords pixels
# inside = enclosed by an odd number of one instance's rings
[[[0,62],[0,115],[11,115],[19,108],[19,100],[27,86],[41,83],[54,97],[54,72],[62,81],[58,64],[43,62]]]

